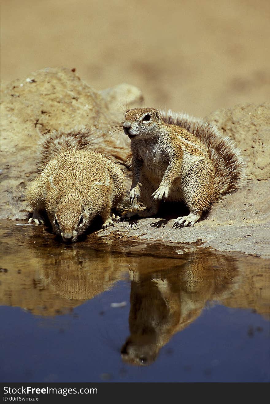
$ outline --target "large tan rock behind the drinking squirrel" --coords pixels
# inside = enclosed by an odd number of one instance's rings
[[[126,94],[126,96],[125,96]],[[1,218],[25,219],[27,181],[37,173],[38,144],[52,130],[91,126],[102,134],[98,151],[126,164],[130,142],[122,131],[112,133],[118,120],[116,104],[127,99],[140,106],[139,90],[128,84],[98,92],[67,68],[43,69],[1,90]]]

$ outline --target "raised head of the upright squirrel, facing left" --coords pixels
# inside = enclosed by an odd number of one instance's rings
[[[162,116],[157,109],[135,108],[126,112],[123,128],[130,139],[149,139],[159,132],[162,123]]]

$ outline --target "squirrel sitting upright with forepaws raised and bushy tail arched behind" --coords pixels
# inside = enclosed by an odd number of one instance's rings
[[[132,203],[140,198],[148,209],[120,220],[151,217],[162,200],[183,200],[190,214],[178,217],[173,227],[193,226],[214,202],[245,183],[240,151],[203,120],[136,108],[126,112],[123,128],[131,139],[129,197]]]

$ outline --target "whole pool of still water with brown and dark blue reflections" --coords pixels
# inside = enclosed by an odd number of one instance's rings
[[[0,233],[0,381],[270,381],[269,261]]]

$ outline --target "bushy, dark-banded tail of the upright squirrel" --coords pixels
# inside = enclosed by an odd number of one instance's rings
[[[223,137],[215,125],[200,118],[170,110],[162,111],[161,114],[164,122],[185,128],[206,145],[216,173],[216,199],[245,186],[245,162],[241,151],[229,137]]]

